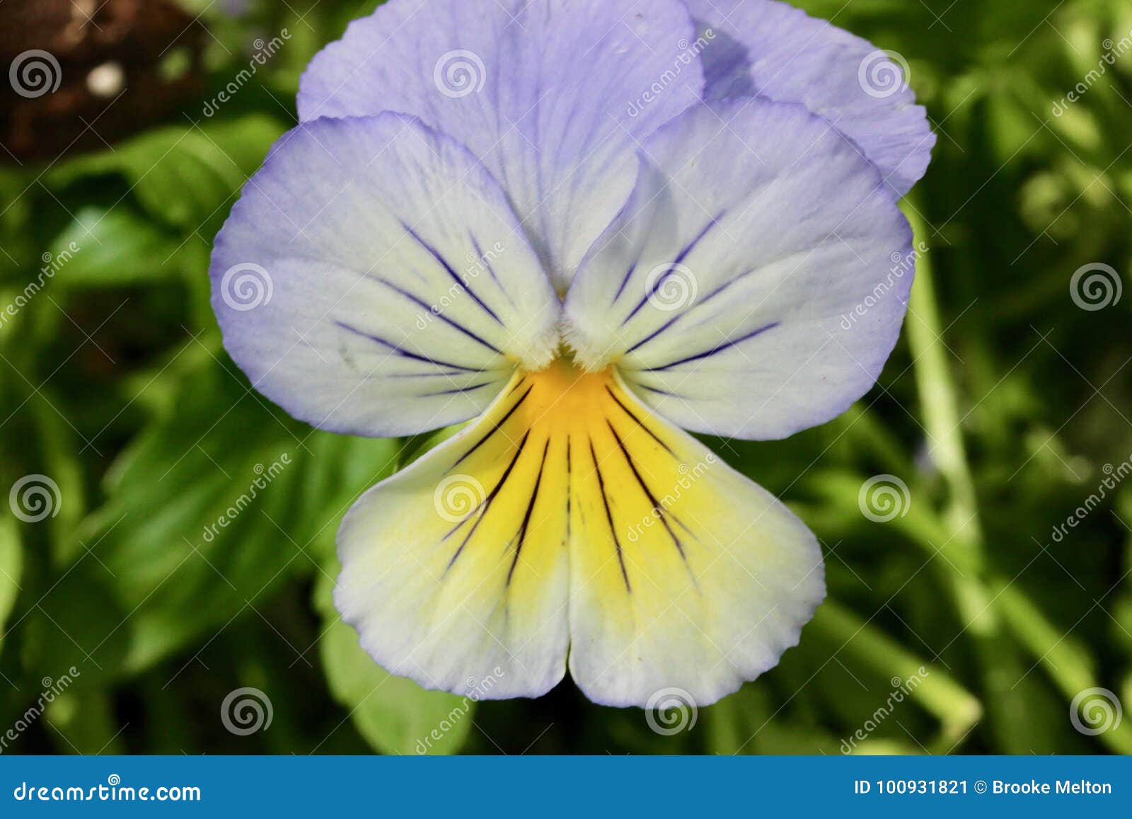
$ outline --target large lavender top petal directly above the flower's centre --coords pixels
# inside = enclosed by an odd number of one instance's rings
[[[315,58],[299,113],[401,111],[460,139],[564,289],[633,187],[635,140],[698,97],[692,39],[679,0],[391,0]]]

